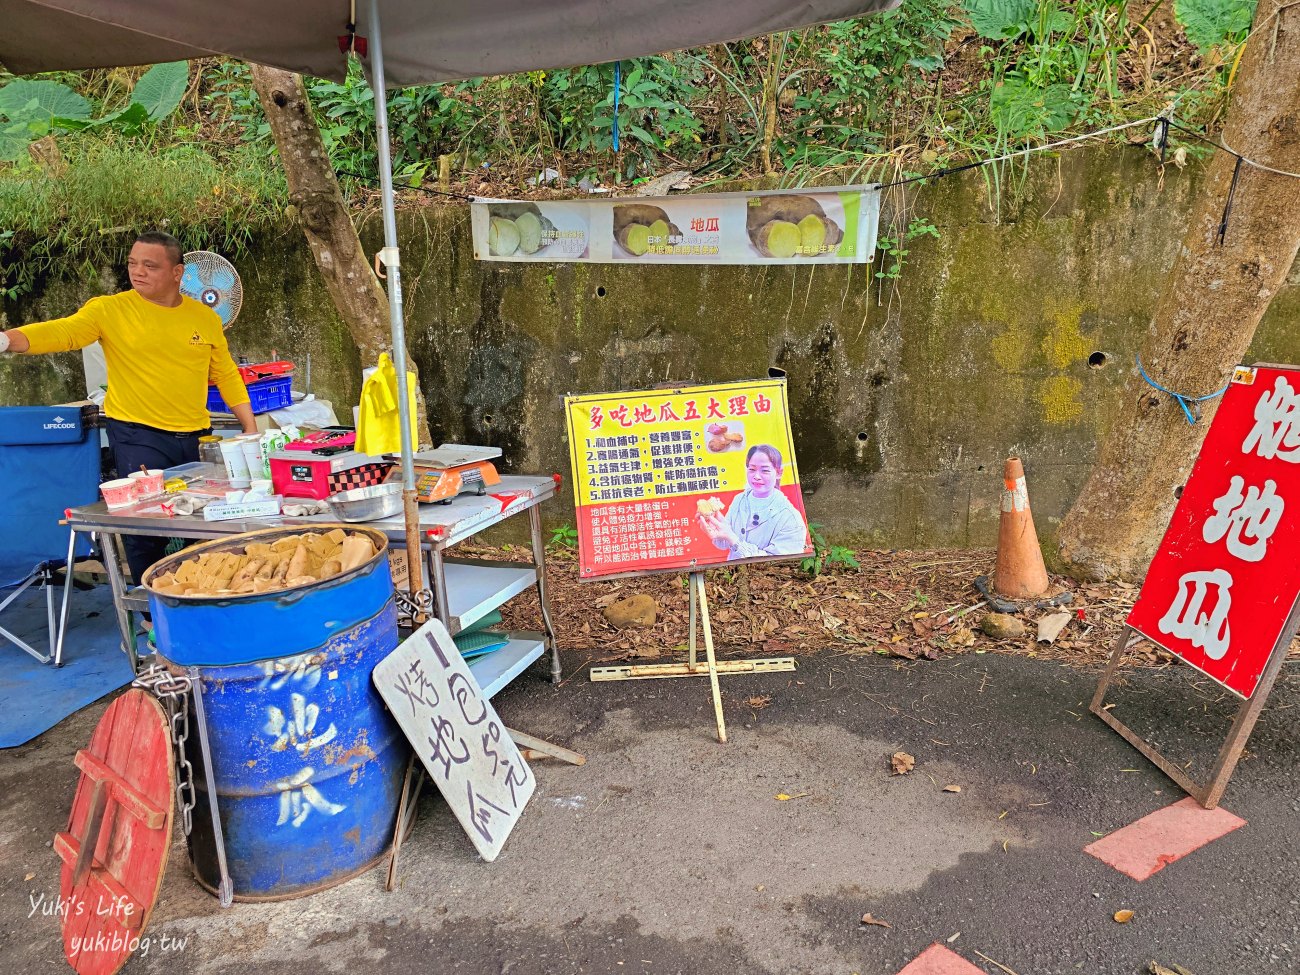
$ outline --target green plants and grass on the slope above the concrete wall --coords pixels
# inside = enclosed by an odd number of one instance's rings
[[[614,65],[394,91],[396,182],[433,188],[439,156],[450,188],[498,196],[671,170],[697,186],[762,172],[785,186],[889,181],[1170,105],[1213,126],[1253,6],[904,0],[880,17],[633,58],[621,64],[619,152]],[[372,204],[374,103],[360,72],[308,90],[344,195]],[[286,204],[248,69],[231,61],[0,75],[0,160],[10,299],[43,274],[120,256],[124,235],[162,221],[187,246],[237,256]],[[1002,170],[980,172],[996,200]],[[883,278],[901,272],[914,230],[883,228]]]

